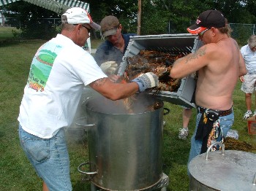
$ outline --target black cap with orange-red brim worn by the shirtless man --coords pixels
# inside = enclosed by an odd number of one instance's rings
[[[225,17],[221,12],[217,10],[207,10],[197,17],[195,24],[189,26],[187,31],[189,31],[190,34],[200,34],[200,32],[206,30],[206,28],[221,28],[224,26]]]

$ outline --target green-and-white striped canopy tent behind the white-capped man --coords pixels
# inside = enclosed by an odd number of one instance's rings
[[[53,12],[62,14],[64,11],[71,7],[81,7],[86,9],[86,11],[90,12],[89,4],[83,1],[78,0],[0,0],[0,7],[5,4],[10,4],[15,1],[26,1],[31,4],[35,4],[39,7],[43,7],[45,9],[49,9]],[[89,52],[91,53],[91,40],[90,38],[87,40],[87,44],[89,47]]]

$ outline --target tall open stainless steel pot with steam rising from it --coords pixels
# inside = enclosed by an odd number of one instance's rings
[[[129,101],[129,109],[124,100],[102,96],[83,105],[91,126],[89,163],[78,171],[104,190],[143,190],[162,178],[163,102],[143,93]],[[91,172],[82,170],[87,164]]]

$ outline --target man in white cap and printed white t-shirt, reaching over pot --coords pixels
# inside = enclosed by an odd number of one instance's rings
[[[61,17],[61,34],[46,42],[31,63],[18,116],[20,145],[43,180],[43,190],[72,190],[64,129],[72,124],[83,87],[111,100],[158,85],[146,73],[127,84],[113,83],[83,45],[99,26],[86,10],[73,7]]]

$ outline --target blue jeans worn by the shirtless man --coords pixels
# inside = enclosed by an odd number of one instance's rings
[[[197,133],[197,126],[199,124],[200,118],[203,114],[200,112],[197,113],[197,122],[195,125],[195,131],[191,138],[191,148],[189,152],[189,162],[196,157],[197,155],[200,155],[202,142],[201,140],[195,140],[195,134]],[[227,131],[230,130],[231,126],[234,122],[234,113],[232,112],[229,115],[219,117],[219,126],[222,129],[223,136],[227,136]],[[188,162],[188,164],[189,164]]]

